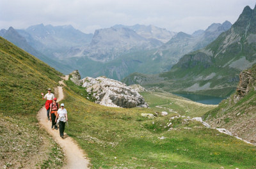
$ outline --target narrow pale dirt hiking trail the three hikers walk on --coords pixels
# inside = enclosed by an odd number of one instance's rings
[[[63,77],[63,79],[68,80],[68,76]],[[63,81],[60,81],[59,83],[65,85]],[[55,91],[58,92],[57,102],[60,104],[61,100],[64,98],[63,89],[61,86],[58,86],[56,87]],[[89,168],[88,165],[90,164],[90,161],[86,158],[83,150],[78,147],[77,143],[70,136],[68,136],[67,133],[64,133],[64,138],[61,138],[59,129],[51,129],[51,121],[47,120],[45,107],[42,107],[39,110],[38,121],[65,152],[67,166],[63,166],[63,168]]]

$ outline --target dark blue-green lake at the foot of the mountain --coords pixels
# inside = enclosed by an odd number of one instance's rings
[[[204,96],[204,95],[198,95],[198,94],[178,94],[178,93],[173,93],[173,94],[177,96],[182,96],[183,98],[188,98],[198,103],[203,103],[206,105],[218,105],[223,99],[226,99],[226,98]]]

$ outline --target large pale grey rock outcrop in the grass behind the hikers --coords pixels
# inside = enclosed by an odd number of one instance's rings
[[[107,107],[148,107],[144,98],[127,85],[106,77],[86,77],[81,80],[87,92],[93,92],[96,103]]]

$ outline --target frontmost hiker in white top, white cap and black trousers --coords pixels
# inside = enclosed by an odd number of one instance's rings
[[[60,125],[60,136],[63,138],[64,136],[64,129],[65,129],[65,123],[68,121],[68,115],[67,115],[67,110],[64,108],[64,103],[61,103],[61,108],[58,110],[57,117],[55,119],[55,122],[58,119],[59,125]]]

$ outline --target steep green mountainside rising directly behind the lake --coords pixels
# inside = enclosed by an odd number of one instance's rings
[[[228,31],[207,47],[184,55],[170,71],[150,76],[135,73],[124,81],[172,92],[229,96],[236,89],[239,73],[256,63],[255,30],[256,10],[246,6]]]

